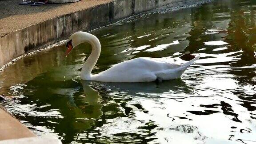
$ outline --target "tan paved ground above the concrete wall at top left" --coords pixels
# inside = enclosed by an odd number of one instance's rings
[[[22,0],[0,0],[0,37],[57,16],[77,12],[112,0],[81,0],[76,3],[19,5]]]

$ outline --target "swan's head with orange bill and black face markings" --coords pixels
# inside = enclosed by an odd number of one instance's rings
[[[66,44],[66,47],[68,48],[66,51],[66,56],[68,56],[71,50],[73,48],[76,48],[76,46],[78,46],[79,44],[85,43],[85,42],[92,44],[93,40],[98,40],[98,39],[96,38],[96,36],[88,32],[76,32],[72,34],[68,38],[68,42]]]

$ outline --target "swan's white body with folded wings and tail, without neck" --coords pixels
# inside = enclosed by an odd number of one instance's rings
[[[92,75],[91,80],[104,82],[149,82],[157,78],[171,80],[179,78],[189,65],[182,66],[157,58],[140,57],[115,64],[104,72]]]

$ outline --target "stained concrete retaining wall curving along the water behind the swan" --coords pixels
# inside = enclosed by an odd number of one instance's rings
[[[189,1],[202,0],[113,0],[20,29],[0,38],[0,67],[32,49],[67,39],[76,31],[89,31],[164,5]]]

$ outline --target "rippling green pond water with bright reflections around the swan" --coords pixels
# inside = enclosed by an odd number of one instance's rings
[[[66,143],[256,142],[256,1],[216,0],[92,32],[102,52],[93,73],[136,57],[184,63],[178,80],[100,83],[80,80],[88,44],[68,56],[59,46],[0,72],[1,104],[39,136]],[[177,41],[178,40],[178,41]],[[212,42],[213,41],[213,42]]]

